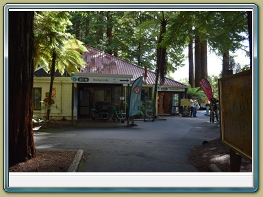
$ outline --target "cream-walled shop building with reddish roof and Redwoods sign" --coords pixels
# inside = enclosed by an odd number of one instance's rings
[[[118,105],[125,111],[129,88],[134,80],[143,76],[142,102],[153,99],[155,73],[129,62],[87,47],[84,53],[86,66],[79,73],[61,76],[57,73],[52,92],[51,119],[79,120],[91,116],[92,109],[103,105]],[[49,94],[50,77],[42,69],[34,77],[34,115],[45,116],[45,101]],[[180,99],[186,98],[188,86],[166,78],[158,86],[158,114],[181,114]],[[47,100],[47,99],[46,99]]]

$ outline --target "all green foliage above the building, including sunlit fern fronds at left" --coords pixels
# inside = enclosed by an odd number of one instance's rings
[[[49,72],[55,53],[55,70],[61,74],[65,70],[76,72],[85,64],[81,53],[86,49],[84,44],[88,44],[138,66],[147,66],[163,78],[184,66],[183,51],[195,36],[200,42],[207,40],[218,55],[246,50],[242,44],[247,39],[246,17],[246,12],[240,11],[36,12],[34,64]],[[235,64],[234,72],[242,69],[247,66]],[[208,78],[216,97],[217,78]],[[191,88],[188,92],[199,94]]]

